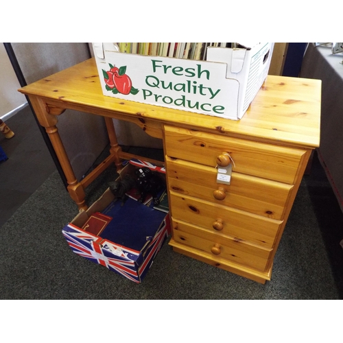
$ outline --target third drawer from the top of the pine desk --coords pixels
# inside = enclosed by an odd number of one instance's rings
[[[231,238],[251,241],[264,248],[272,248],[282,221],[212,204],[170,191],[171,214],[182,220]]]

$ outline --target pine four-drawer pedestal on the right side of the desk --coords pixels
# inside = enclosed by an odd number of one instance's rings
[[[310,149],[165,126],[176,252],[269,281]],[[217,178],[231,164],[230,182]]]

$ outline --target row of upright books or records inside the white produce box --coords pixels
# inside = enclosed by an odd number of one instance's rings
[[[117,43],[128,54],[206,60],[207,47],[234,47],[236,43]]]

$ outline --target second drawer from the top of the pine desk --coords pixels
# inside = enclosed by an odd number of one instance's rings
[[[181,195],[280,220],[289,192],[281,182],[233,173],[230,185],[217,183],[217,169],[165,156],[169,189]],[[217,192],[220,192],[220,197]]]

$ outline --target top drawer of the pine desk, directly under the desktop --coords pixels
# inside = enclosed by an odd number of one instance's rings
[[[223,152],[235,162],[233,171],[293,184],[306,151],[220,134],[165,126],[165,153],[169,157],[216,167]]]

